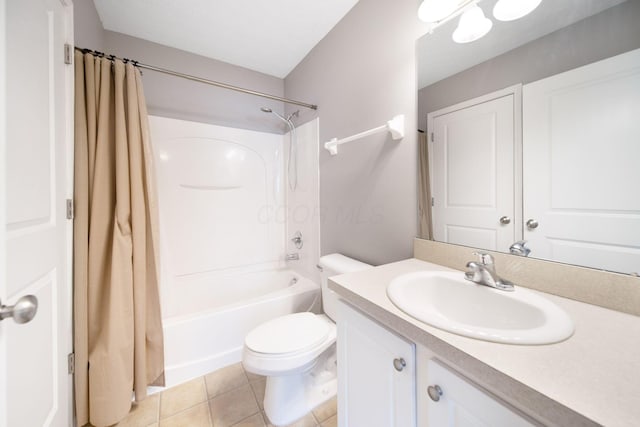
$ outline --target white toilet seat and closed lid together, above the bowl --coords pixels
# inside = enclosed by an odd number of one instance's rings
[[[336,336],[336,325],[325,315],[288,314],[249,332],[242,361],[248,371],[259,375],[303,371],[335,343]]]

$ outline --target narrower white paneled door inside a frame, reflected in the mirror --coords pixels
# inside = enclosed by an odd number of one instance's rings
[[[521,238],[518,91],[429,114],[435,240],[508,252]]]

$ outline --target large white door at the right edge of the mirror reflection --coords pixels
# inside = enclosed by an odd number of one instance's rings
[[[640,273],[640,50],[524,86],[523,127],[531,256]]]

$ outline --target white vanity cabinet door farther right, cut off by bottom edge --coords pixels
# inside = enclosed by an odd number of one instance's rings
[[[523,416],[447,368],[430,360],[430,387],[440,387],[437,401],[427,403],[428,426],[434,427],[532,427]],[[426,390],[425,390],[426,392]],[[431,393],[434,393],[433,389]],[[430,393],[430,395],[431,395]]]

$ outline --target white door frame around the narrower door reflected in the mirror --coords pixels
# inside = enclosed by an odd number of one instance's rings
[[[524,236],[523,195],[522,195],[522,83],[508,86],[448,107],[427,113],[427,151],[429,153],[429,185],[433,183],[433,121],[436,117],[453,113],[474,105],[482,104],[505,96],[513,96],[513,200],[516,241]],[[433,188],[431,189],[433,192]]]

